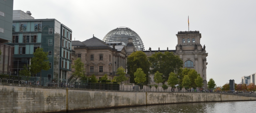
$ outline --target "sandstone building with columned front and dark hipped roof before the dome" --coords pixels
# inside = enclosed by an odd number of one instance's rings
[[[132,43],[132,39],[129,39]],[[107,74],[109,79],[112,80],[116,76],[116,70],[119,67],[126,68],[126,58],[128,52],[136,51],[134,46],[119,45],[109,45],[104,41],[93,36],[83,42],[73,41],[72,43],[72,64],[74,65],[74,60],[81,58],[84,62],[85,71],[87,76],[95,74],[95,76],[100,79],[104,74]],[[72,69],[72,71],[74,71]],[[125,75],[130,78],[129,74]],[[71,74],[69,79],[75,79]],[[124,81],[125,84],[130,83],[130,79]]]

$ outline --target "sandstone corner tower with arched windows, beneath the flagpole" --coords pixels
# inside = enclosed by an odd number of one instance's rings
[[[179,31],[176,34],[178,43],[176,55],[183,60],[183,68],[195,69],[203,78],[204,87],[207,87],[206,78],[206,53],[205,45],[201,45],[201,33],[199,31]]]

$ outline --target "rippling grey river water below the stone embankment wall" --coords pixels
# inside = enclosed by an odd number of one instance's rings
[[[201,102],[102,109],[79,113],[255,113],[256,101]]]

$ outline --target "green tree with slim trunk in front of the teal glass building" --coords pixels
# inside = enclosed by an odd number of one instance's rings
[[[42,70],[49,70],[49,58],[47,57],[48,53],[43,51],[43,48],[37,48],[36,52],[33,52],[34,57],[31,59],[30,71],[32,73],[40,72],[40,84],[42,78]]]

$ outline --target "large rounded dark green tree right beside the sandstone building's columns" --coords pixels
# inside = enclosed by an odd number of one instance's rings
[[[149,83],[149,61],[147,59],[147,55],[144,52],[132,52],[132,54],[127,57],[126,67],[128,70],[127,74],[130,74],[131,83],[136,83],[134,80],[134,73],[137,71],[138,68],[141,68],[146,74],[146,81],[144,83]]]

